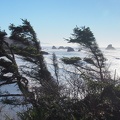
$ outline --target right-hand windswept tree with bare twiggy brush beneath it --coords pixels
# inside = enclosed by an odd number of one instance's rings
[[[80,99],[90,94],[101,93],[105,85],[111,82],[111,78],[106,69],[106,58],[97,45],[92,31],[89,27],[75,27],[72,37],[66,40],[69,43],[77,43],[85,53],[84,56],[80,56],[81,58],[63,57],[61,59],[71,66],[66,70],[69,75],[67,81],[69,81],[70,96]]]

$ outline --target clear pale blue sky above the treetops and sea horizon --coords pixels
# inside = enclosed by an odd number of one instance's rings
[[[100,47],[120,47],[120,0],[0,0],[0,29],[30,21],[41,45],[69,44],[76,27],[90,27]]]

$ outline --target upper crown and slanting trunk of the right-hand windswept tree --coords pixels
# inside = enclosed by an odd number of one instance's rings
[[[96,39],[90,30],[89,27],[75,27],[73,29],[72,37],[69,39],[66,39],[69,43],[77,43],[84,49],[87,53],[87,56],[83,59],[86,63],[88,63],[88,66],[80,66],[77,64],[76,66],[78,68],[82,68],[89,72],[88,77],[95,77],[97,80],[104,81],[105,80],[105,57],[98,47],[98,44],[96,42]],[[74,64],[75,65],[75,64]]]

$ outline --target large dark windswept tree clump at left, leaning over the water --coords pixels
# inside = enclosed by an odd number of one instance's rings
[[[21,91],[21,94],[6,92],[4,95],[2,93],[1,97],[7,97],[7,101],[9,101],[10,96],[24,96],[27,102],[30,102],[35,108],[39,108],[41,105],[39,99],[47,95],[52,98],[58,96],[58,86],[57,81],[53,79],[47,69],[40,42],[33,27],[27,20],[22,19],[22,22],[22,25],[19,26],[13,24],[9,26],[10,40],[14,44],[8,44],[5,41],[6,33],[0,32],[0,86],[14,83]],[[20,66],[16,59],[20,59],[26,64]],[[31,91],[30,81],[37,84],[37,87],[31,86]]]

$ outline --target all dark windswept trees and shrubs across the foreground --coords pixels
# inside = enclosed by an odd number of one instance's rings
[[[54,76],[47,68],[40,41],[28,20],[22,25],[9,26],[7,33],[0,31],[0,87],[14,84],[20,93],[13,94],[0,89],[3,104],[27,106],[18,114],[21,120],[119,120],[120,83],[112,79],[106,66],[106,58],[89,27],[75,27],[69,43],[79,44],[86,56],[61,61],[72,68],[64,69],[61,80],[59,62],[52,57]],[[18,65],[19,58],[26,63]],[[85,63],[85,64],[83,64]],[[34,81],[37,85],[31,85]]]

